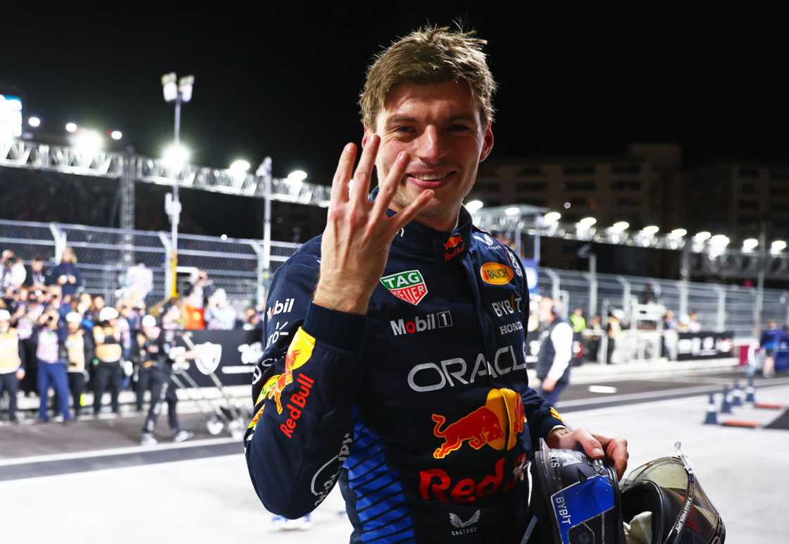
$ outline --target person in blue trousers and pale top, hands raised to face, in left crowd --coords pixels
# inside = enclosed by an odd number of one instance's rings
[[[39,422],[49,421],[47,403],[49,390],[54,388],[57,398],[56,421],[69,421],[69,378],[62,358],[63,329],[58,329],[60,313],[52,308],[41,314],[36,323],[36,359],[38,359]]]

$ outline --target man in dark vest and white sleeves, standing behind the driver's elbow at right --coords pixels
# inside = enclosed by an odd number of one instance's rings
[[[540,379],[540,396],[552,406],[570,384],[570,358],[573,355],[573,329],[562,319],[559,310],[553,298],[540,298],[540,321],[546,328],[540,336],[537,378]]]

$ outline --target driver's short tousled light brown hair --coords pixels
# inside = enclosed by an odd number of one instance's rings
[[[482,51],[488,42],[475,38],[475,34],[473,30],[464,31],[460,24],[456,31],[449,27],[422,27],[376,55],[359,96],[365,127],[375,129],[376,115],[391,90],[401,83],[465,81],[479,107],[482,125],[492,121],[496,84]]]

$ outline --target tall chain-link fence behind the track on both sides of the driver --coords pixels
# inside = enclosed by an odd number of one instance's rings
[[[113,302],[121,294],[126,270],[137,262],[144,263],[153,272],[153,289],[148,303],[165,298],[169,238],[167,233],[150,231],[0,220],[0,249],[13,249],[25,261],[40,256],[48,267],[52,267],[57,264],[63,247],[68,245],[77,254],[85,291],[94,295],[100,293]],[[260,240],[180,234],[178,265],[185,272],[189,269],[208,272],[214,287],[224,289],[235,306],[262,306],[271,272],[298,247],[297,243],[271,242],[270,261],[266,263]],[[758,291],[753,287],[593,275],[551,268],[539,271],[541,294],[558,297],[568,311],[582,308],[588,316],[615,308],[629,313],[630,305],[648,285],[660,302],[674,310],[678,317],[696,312],[704,330],[733,331],[739,337],[757,333]],[[765,289],[763,297],[762,324],[789,322],[789,291]]]

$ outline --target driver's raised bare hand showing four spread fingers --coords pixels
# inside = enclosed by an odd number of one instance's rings
[[[402,212],[388,217],[387,206],[406,173],[409,156],[401,152],[376,201],[368,193],[380,137],[368,139],[356,171],[356,146],[342,150],[331,185],[331,204],[320,244],[320,280],[313,301],[318,306],[348,313],[367,313],[367,306],[387,264],[394,235],[428,204],[433,191],[426,189]],[[353,174],[353,178],[352,178]]]

